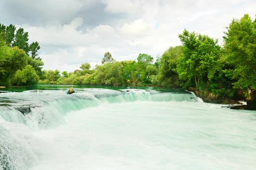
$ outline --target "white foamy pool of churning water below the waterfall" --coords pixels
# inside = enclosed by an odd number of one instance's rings
[[[29,170],[255,170],[256,113],[201,102],[123,102],[71,111],[34,131]]]

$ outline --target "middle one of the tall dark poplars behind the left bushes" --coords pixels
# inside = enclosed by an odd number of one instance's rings
[[[13,47],[17,46],[20,49],[24,50],[26,52],[26,55],[29,55],[29,34],[28,32],[24,32],[23,28],[19,28],[16,31],[15,39],[12,44]]]

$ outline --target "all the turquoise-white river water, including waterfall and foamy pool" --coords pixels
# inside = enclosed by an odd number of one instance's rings
[[[177,89],[68,88],[0,94],[0,170],[255,169],[255,111]]]

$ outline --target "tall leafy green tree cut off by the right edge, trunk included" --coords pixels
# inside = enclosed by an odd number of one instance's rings
[[[226,59],[233,67],[226,74],[236,80],[234,88],[247,88],[247,107],[256,110],[256,20],[244,14],[233,19],[224,34]]]

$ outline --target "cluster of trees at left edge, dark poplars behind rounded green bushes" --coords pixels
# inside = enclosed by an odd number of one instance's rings
[[[34,85],[44,62],[38,57],[38,42],[29,44],[29,34],[12,24],[0,24],[0,86]]]

